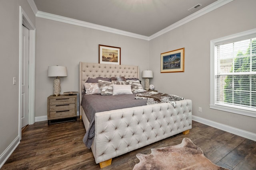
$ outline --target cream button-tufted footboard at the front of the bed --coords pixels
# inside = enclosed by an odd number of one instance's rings
[[[191,128],[191,100],[99,112],[92,152],[100,163]]]

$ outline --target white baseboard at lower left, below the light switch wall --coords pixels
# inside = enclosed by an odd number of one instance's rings
[[[4,152],[0,155],[0,169],[6,162],[6,160],[11,156],[12,152],[18,147],[20,144],[20,137],[17,136],[14,141],[4,150]]]

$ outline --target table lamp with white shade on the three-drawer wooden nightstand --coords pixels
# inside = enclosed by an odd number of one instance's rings
[[[59,96],[60,87],[60,77],[68,76],[67,67],[65,66],[48,66],[48,77],[55,77],[53,80],[53,95]]]

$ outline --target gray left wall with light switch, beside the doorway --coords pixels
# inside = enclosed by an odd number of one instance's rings
[[[18,137],[19,131],[19,6],[36,25],[36,17],[27,0],[0,1],[0,155]],[[13,77],[16,77],[16,85],[12,84]]]

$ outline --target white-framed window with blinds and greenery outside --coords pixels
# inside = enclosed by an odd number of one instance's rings
[[[256,29],[210,42],[210,108],[256,117]]]

